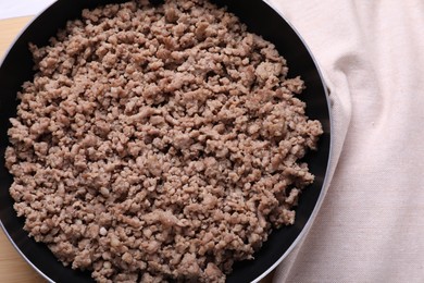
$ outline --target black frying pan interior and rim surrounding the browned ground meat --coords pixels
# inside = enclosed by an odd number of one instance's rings
[[[7,131],[9,119],[16,114],[16,93],[25,81],[34,75],[33,59],[28,42],[37,46],[48,44],[67,20],[77,19],[84,8],[120,2],[112,0],[59,0],[37,16],[15,40],[0,65],[0,220],[9,239],[26,261],[42,276],[54,282],[92,282],[88,272],[63,267],[45,244],[36,243],[23,230],[24,219],[13,210],[9,195],[12,176],[4,168],[4,150],[9,144]],[[123,1],[121,1],[123,2]],[[154,1],[158,2],[158,1]],[[315,181],[307,187],[299,199],[294,225],[275,230],[269,241],[254,255],[254,260],[241,261],[234,266],[227,282],[259,281],[271,272],[305,234],[325,194],[326,172],[331,153],[331,120],[327,93],[319,67],[297,32],[267,3],[262,0],[212,0],[219,7],[226,5],[244,23],[249,32],[262,35],[273,42],[289,66],[289,77],[301,75],[307,89],[301,99],[307,102],[310,119],[321,121],[324,134],[319,150],[307,155],[304,161]]]

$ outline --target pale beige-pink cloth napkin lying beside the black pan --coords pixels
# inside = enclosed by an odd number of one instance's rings
[[[424,1],[270,0],[332,89],[334,175],[274,282],[424,282]]]

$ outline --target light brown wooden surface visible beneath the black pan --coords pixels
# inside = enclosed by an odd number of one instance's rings
[[[16,35],[30,21],[32,16],[0,20],[0,58],[4,56]],[[33,268],[15,250],[0,229],[0,283],[45,283]],[[271,282],[271,276],[261,283]]]

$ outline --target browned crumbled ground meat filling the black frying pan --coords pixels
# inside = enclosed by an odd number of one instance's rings
[[[30,51],[10,193],[63,264],[98,282],[224,282],[294,223],[322,127],[285,59],[225,9],[108,4]]]

